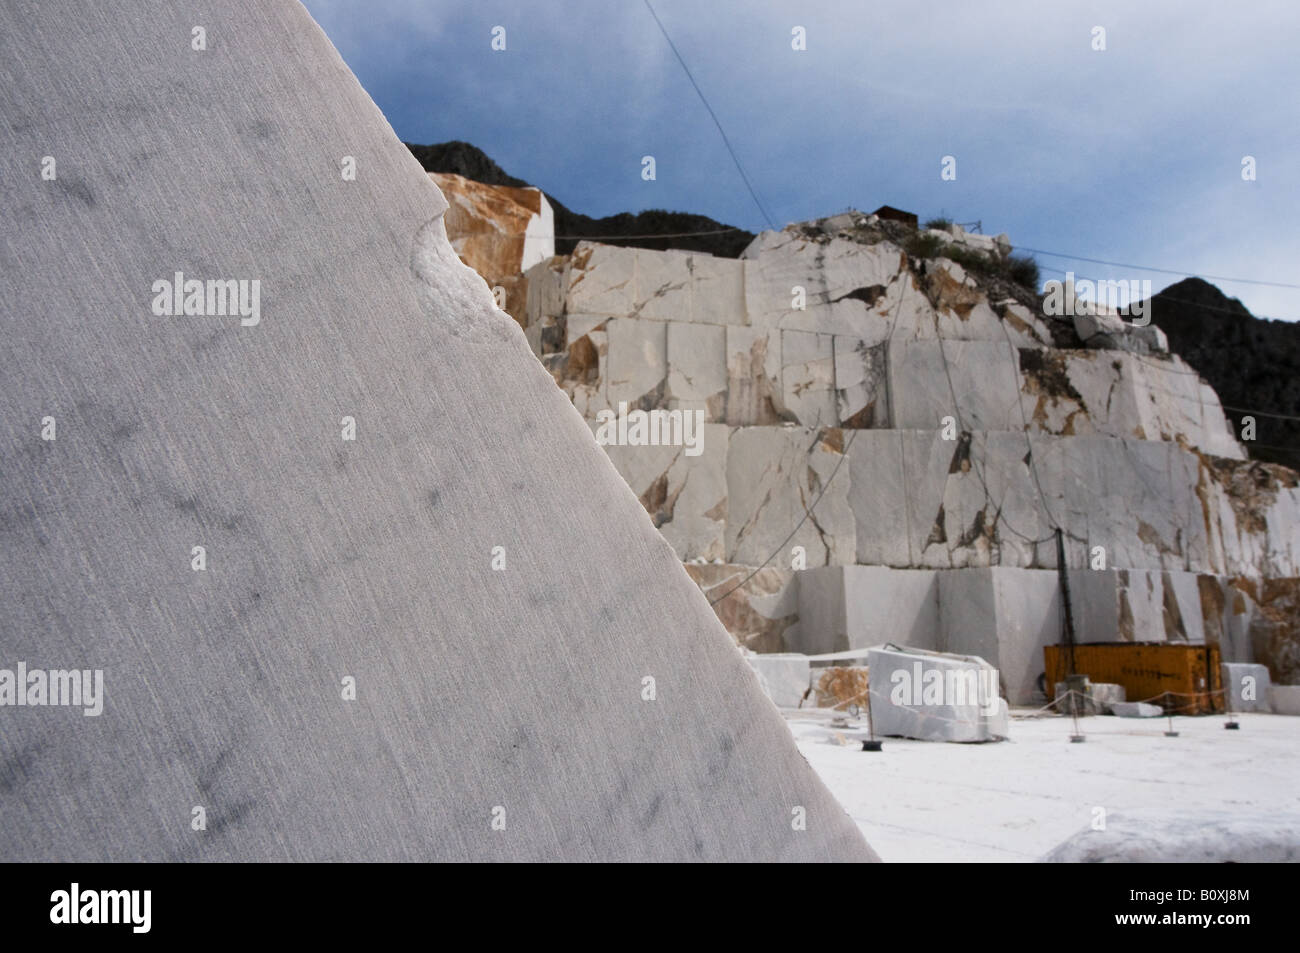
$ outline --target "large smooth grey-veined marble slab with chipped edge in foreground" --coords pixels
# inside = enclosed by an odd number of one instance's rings
[[[0,668],[103,673],[0,712],[0,857],[874,859],[306,10],[205,9],[0,8]]]

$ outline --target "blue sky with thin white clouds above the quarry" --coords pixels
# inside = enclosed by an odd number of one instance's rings
[[[777,226],[892,204],[1022,247],[1300,285],[1295,0],[653,3]],[[766,225],[644,0],[307,8],[408,142],[471,142],[593,216]],[[1044,278],[1179,280],[1036,257]],[[1300,319],[1297,289],[1216,283]]]

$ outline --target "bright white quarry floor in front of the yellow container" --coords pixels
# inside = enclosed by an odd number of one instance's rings
[[[803,757],[884,861],[1035,861],[1091,826],[1095,807],[1300,811],[1300,718],[1023,718],[1010,741],[983,745],[884,738],[862,750],[858,727],[828,710],[783,712]],[[854,719],[849,719],[850,725]]]

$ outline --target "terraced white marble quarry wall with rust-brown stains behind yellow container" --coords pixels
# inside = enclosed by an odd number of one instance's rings
[[[528,272],[526,312],[597,433],[703,413],[697,455],[606,451],[711,598],[776,553],[715,607],[750,649],[978,654],[1028,702],[1060,640],[1056,521],[1069,566],[1105,550],[1072,573],[1080,638],[1271,651],[1251,589],[1297,575],[1300,491],[1176,356],[1056,348],[953,261],[797,229],[740,260],[581,243]]]

